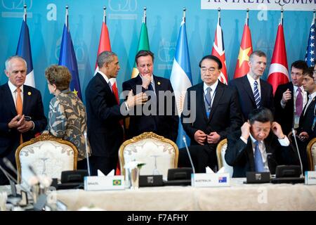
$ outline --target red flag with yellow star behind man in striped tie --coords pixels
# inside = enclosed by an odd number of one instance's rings
[[[234,79],[243,77],[249,72],[249,56],[252,53],[251,33],[248,25],[244,25],[242,42],[240,43],[239,55],[237,58]]]

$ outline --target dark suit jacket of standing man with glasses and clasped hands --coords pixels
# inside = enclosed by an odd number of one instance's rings
[[[191,99],[192,93],[196,93],[196,99]],[[216,131],[222,140],[242,125],[242,114],[235,89],[218,82],[213,98],[211,113],[209,117],[206,117],[204,82],[187,89],[181,122],[183,129],[191,139],[191,145],[199,145],[194,138],[197,130],[202,130],[205,134]],[[191,103],[196,104],[195,108]],[[195,117],[195,120],[185,122],[189,117]],[[207,141],[205,143],[207,144]]]

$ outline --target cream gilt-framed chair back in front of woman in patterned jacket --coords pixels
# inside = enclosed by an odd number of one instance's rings
[[[34,176],[29,171],[32,165],[38,175],[46,175],[60,180],[61,172],[77,169],[78,150],[70,141],[42,134],[22,143],[15,151],[18,168],[18,182],[28,181]]]

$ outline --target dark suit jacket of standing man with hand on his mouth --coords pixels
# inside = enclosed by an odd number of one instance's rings
[[[176,113],[176,100],[174,96],[171,98],[171,101],[170,99],[167,99],[166,96],[159,96],[159,91],[170,91],[170,93],[173,94],[171,82],[169,79],[163,77],[154,76],[153,78],[157,106],[157,110],[154,110],[154,113],[157,113],[157,115],[144,115],[143,111],[141,111],[142,113],[140,113],[140,115],[131,115],[128,136],[129,138],[132,138],[133,136],[138,136],[145,131],[152,131],[176,142],[179,123],[178,113]],[[140,75],[138,75],[137,77],[129,79],[123,83],[123,91],[133,90],[134,95],[140,93],[141,91],[147,91],[146,89],[143,89],[141,85],[142,79]],[[138,86],[138,89],[136,89],[136,86]],[[164,101],[164,111],[160,109],[162,112],[159,112],[159,104],[161,105],[162,101]],[[138,110],[140,111],[140,108],[148,108],[147,103],[134,107],[135,114]],[[169,109],[171,109],[171,111],[169,111]]]

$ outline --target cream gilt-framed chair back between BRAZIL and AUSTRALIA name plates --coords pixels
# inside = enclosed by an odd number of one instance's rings
[[[127,162],[136,160],[145,163],[140,169],[140,175],[152,175],[154,169],[157,169],[159,174],[167,179],[168,169],[178,167],[178,154],[178,147],[173,141],[153,132],[144,132],[121,144],[119,148],[121,173],[125,174],[124,165]]]

